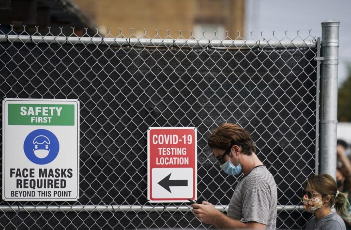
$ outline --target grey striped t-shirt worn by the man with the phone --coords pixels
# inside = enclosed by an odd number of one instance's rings
[[[241,222],[255,221],[276,229],[277,185],[265,166],[258,166],[238,182],[227,216]]]

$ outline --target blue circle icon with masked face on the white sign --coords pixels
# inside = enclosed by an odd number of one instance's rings
[[[59,153],[59,140],[52,132],[44,129],[29,133],[23,144],[28,160],[37,165],[45,165],[53,161]]]

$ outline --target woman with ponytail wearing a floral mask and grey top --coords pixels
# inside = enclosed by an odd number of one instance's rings
[[[306,182],[302,202],[307,212],[313,217],[305,229],[314,230],[345,230],[342,219],[349,216],[349,201],[347,195],[337,190],[332,176],[328,174],[312,175]],[[336,212],[332,212],[334,205]]]

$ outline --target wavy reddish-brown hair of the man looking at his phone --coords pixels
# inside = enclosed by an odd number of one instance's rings
[[[214,130],[207,140],[210,148],[228,149],[233,145],[241,147],[245,155],[256,153],[255,144],[244,128],[236,124],[226,123]]]

